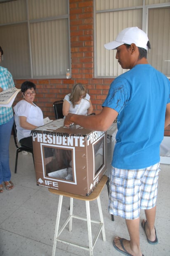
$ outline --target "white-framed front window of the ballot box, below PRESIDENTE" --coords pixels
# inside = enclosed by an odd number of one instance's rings
[[[43,147],[45,176],[73,181],[72,150]]]

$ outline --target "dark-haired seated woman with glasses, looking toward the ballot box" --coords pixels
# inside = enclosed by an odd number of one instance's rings
[[[31,130],[43,126],[43,112],[33,103],[35,99],[35,84],[25,81],[21,85],[23,99],[14,106],[14,118],[18,141],[29,148],[33,148]]]

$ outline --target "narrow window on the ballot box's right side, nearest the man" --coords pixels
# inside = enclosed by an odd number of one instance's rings
[[[104,137],[93,145],[94,174],[96,175],[104,167]]]

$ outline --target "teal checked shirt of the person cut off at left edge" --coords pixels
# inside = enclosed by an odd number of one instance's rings
[[[3,91],[15,86],[11,73],[0,66],[0,87]],[[12,107],[0,107],[0,125],[9,122],[13,117]]]

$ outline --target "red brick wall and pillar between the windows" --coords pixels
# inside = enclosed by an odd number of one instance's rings
[[[81,82],[90,94],[94,112],[102,109],[112,79],[94,78],[93,0],[70,0],[71,79],[34,79],[37,88],[35,103],[44,117],[54,119],[53,102],[71,92],[73,84]],[[14,80],[20,88],[24,80]],[[16,101],[21,99],[21,94]],[[14,104],[15,104],[14,103]],[[165,133],[170,136],[170,126]],[[165,135],[166,135],[165,134]]]

